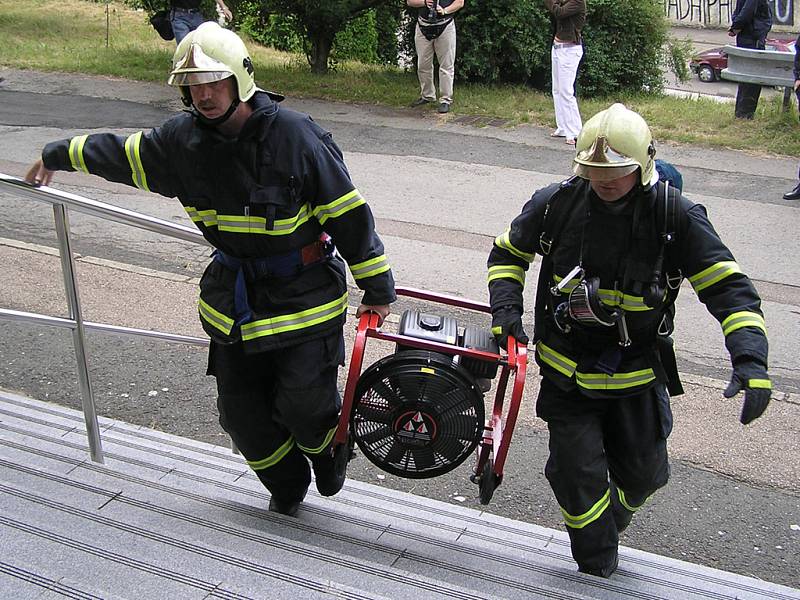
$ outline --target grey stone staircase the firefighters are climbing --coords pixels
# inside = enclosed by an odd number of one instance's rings
[[[348,481],[298,518],[228,449],[0,390],[0,598],[800,599],[800,590],[621,549],[609,580],[566,534]]]

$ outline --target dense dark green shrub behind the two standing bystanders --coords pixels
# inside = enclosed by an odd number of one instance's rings
[[[416,11],[402,47],[415,56]],[[544,3],[468,2],[456,15],[456,77],[484,84],[525,83],[548,89],[554,24]],[[588,0],[578,87],[586,96],[658,91],[668,26],[658,0]],[[671,51],[674,54],[674,51]]]

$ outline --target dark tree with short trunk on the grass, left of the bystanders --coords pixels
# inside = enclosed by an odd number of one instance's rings
[[[241,0],[228,2],[231,9]],[[313,73],[325,74],[336,34],[371,8],[397,0],[256,0],[266,14],[288,17],[301,28],[303,46]]]

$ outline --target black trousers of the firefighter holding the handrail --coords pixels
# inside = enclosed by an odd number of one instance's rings
[[[291,501],[305,494],[311,471],[298,446],[321,449],[336,426],[342,364],[341,329],[252,354],[241,343],[211,343],[220,425],[272,495]]]

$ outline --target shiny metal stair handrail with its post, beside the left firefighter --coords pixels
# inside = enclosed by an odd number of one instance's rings
[[[159,233],[179,240],[203,245],[209,244],[198,230],[191,227],[170,223],[169,221],[165,221],[163,219],[137,213],[132,210],[127,210],[125,208],[120,208],[118,206],[106,204],[97,200],[84,198],[83,196],[78,196],[76,194],[62,192],[50,187],[33,187],[25,183],[22,179],[11,177],[3,173],[0,173],[0,189],[4,191],[11,191],[18,196],[24,196],[38,202],[47,202],[53,205],[53,217],[55,219],[59,254],[61,256],[61,271],[64,276],[64,288],[67,294],[68,313],[67,317],[53,317],[39,313],[28,313],[0,308],[0,319],[35,323],[39,325],[48,325],[72,330],[72,342],[75,348],[75,359],[78,367],[78,384],[81,390],[81,403],[83,406],[84,421],[86,422],[89,454],[93,461],[102,463],[103,446],[100,440],[100,429],[97,424],[97,410],[95,408],[92,382],[89,377],[89,361],[86,355],[86,330],[157,338],[171,342],[181,342],[198,346],[207,346],[208,340],[204,338],[165,333],[161,331],[150,331],[146,329],[135,329],[132,327],[110,325],[108,323],[92,323],[84,321],[81,313],[78,284],[75,279],[75,261],[70,242],[68,209],[73,209],[77,212],[114,221],[123,225],[129,225],[138,229]]]

